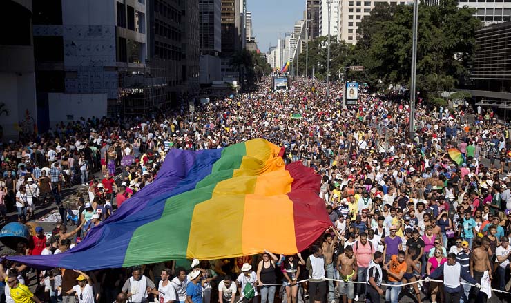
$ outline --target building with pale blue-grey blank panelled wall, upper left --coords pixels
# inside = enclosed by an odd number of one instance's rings
[[[146,0],[34,1],[39,126],[148,113],[166,79],[148,68]],[[177,53],[180,56],[181,53]]]

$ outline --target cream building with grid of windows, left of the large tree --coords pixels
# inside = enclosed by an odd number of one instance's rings
[[[360,22],[363,17],[369,16],[377,2],[381,1],[340,0],[340,31],[338,32],[338,39],[355,44],[360,37],[360,33],[358,32]],[[413,0],[388,0],[387,3],[405,5],[413,4]]]

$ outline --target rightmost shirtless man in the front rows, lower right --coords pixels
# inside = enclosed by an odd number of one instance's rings
[[[470,275],[474,277],[479,284],[483,284],[481,278],[483,278],[484,272],[488,271],[488,275],[490,276],[490,280],[492,280],[492,263],[490,262],[490,258],[488,258],[488,249],[490,248],[490,239],[488,237],[484,237],[481,240],[481,245],[476,247],[472,253],[470,253]],[[472,286],[470,290],[470,298],[469,302],[474,303],[478,298],[478,293],[481,296],[480,300],[477,302],[486,303],[488,298],[485,293],[479,291],[479,288]]]

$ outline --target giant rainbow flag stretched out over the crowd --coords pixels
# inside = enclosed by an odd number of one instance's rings
[[[181,258],[292,254],[331,226],[320,176],[285,165],[283,149],[255,139],[224,149],[172,149],[156,180],[59,255],[12,256],[41,269],[93,270]]]

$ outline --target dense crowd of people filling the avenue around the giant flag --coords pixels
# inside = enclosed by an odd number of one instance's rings
[[[32,241],[16,253],[62,253],[153,182],[170,149],[265,138],[285,147],[287,163],[301,161],[322,177],[318,194],[332,223],[324,237],[298,255],[265,251],[192,264],[37,271],[44,298],[25,286],[30,269],[4,261],[1,302],[273,303],[278,297],[330,303],[385,296],[394,303],[404,295],[419,303],[425,297],[484,302],[490,286],[509,289],[511,141],[491,109],[420,103],[409,138],[409,103],[400,94],[360,94],[358,106],[342,109],[338,95],[325,100],[323,83],[293,79],[287,92],[271,92],[269,83],[262,79],[254,92],[197,104],[193,114],[183,105],[153,116],[81,118],[31,142],[3,144],[0,213],[6,221],[7,211],[16,210],[24,223],[36,205],[55,202],[62,222],[52,236],[35,227]],[[450,148],[461,161],[451,158]],[[99,171],[104,177],[97,180]],[[66,209],[61,189],[77,184],[88,194]],[[77,228],[68,232],[72,210]]]

